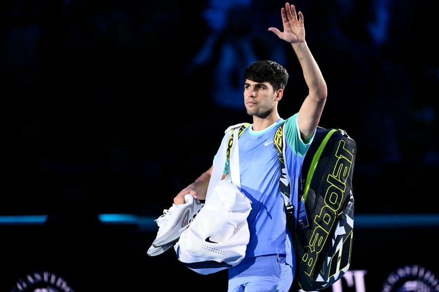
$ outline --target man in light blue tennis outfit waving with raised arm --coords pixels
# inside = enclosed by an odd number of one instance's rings
[[[268,30],[291,43],[299,58],[309,94],[299,112],[285,121],[285,157],[291,178],[291,193],[297,200],[297,181],[305,153],[312,142],[326,101],[326,84],[305,42],[303,15],[294,5],[281,9],[283,32]],[[253,116],[253,124],[239,137],[241,191],[252,201],[247,218],[250,241],[245,258],[229,268],[229,291],[288,291],[295,272],[291,235],[286,227],[284,201],[279,190],[279,162],[273,137],[280,123],[278,103],[288,80],[288,73],[278,63],[259,61],[244,73],[244,104]],[[185,203],[190,193],[204,200],[213,166],[175,198]],[[225,164],[223,179],[228,174]]]

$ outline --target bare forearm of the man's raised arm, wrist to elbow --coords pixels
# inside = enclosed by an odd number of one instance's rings
[[[302,42],[291,44],[291,46],[299,59],[303,77],[305,78],[310,93],[313,93],[313,96],[316,96],[320,100],[324,100],[327,95],[326,83],[308,45],[306,42]]]

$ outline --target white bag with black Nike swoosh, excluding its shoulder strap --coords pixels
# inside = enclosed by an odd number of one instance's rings
[[[247,224],[250,210],[251,201],[236,185],[220,181],[174,246],[179,260],[199,274],[238,265],[250,240]],[[191,268],[194,263],[197,268]]]

